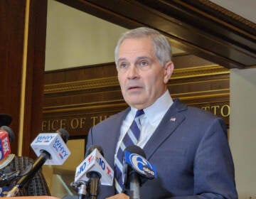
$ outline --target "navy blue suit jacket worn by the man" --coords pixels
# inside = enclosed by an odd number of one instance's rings
[[[87,148],[102,146],[114,169],[114,151],[129,108],[90,129]],[[178,99],[144,146],[156,166],[157,178],[142,185],[142,199],[238,198],[233,158],[225,124],[210,112],[187,107]],[[113,186],[101,186],[98,198],[114,195]]]

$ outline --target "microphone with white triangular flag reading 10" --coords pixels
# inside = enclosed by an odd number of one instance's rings
[[[86,154],[88,155],[85,160],[76,168],[75,182],[87,181],[87,192],[90,198],[97,198],[99,183],[101,185],[112,185],[114,171],[103,158],[102,147],[92,145]]]

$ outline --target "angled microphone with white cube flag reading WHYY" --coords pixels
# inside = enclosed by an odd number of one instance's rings
[[[38,158],[33,163],[31,170],[27,175],[22,176],[14,188],[12,188],[6,197],[13,197],[18,193],[18,190],[23,188],[32,176],[39,171],[43,164],[61,165],[70,156],[70,151],[65,145],[68,141],[68,131],[65,129],[58,129],[55,133],[42,133],[31,143],[33,151],[35,151]],[[64,139],[64,140],[63,140]]]

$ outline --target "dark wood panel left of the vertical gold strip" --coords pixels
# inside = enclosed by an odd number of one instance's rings
[[[18,150],[18,126],[21,104],[21,72],[26,1],[0,1],[0,112],[11,114],[16,139],[11,151]]]

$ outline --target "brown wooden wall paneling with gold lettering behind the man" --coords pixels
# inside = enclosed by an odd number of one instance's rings
[[[228,124],[229,70],[193,55],[178,55],[174,63],[171,96]],[[42,131],[65,128],[71,136],[85,136],[92,125],[127,107],[114,63],[49,71],[45,82]]]

